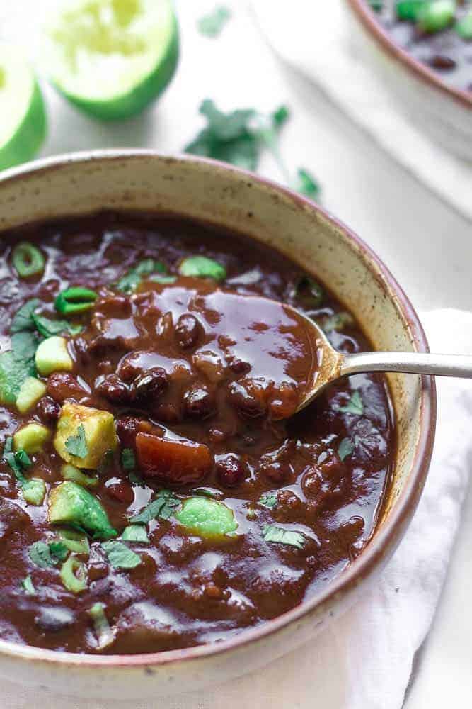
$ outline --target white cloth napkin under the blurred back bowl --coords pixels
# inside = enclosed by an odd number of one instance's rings
[[[370,67],[352,54],[345,0],[251,0],[268,43],[440,199],[472,218],[472,163],[454,157],[403,116]]]

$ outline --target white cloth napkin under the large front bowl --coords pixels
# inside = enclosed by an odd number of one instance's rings
[[[422,320],[433,351],[472,353],[472,313],[432,311]],[[472,463],[472,381],[437,379],[437,385],[437,439],[425,491],[403,542],[365,598],[305,647],[257,673],[138,702],[135,709],[401,709],[444,583]],[[8,709],[125,706],[59,698],[3,680],[1,696]]]

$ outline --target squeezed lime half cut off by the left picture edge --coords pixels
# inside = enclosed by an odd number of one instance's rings
[[[46,135],[42,95],[25,58],[0,45],[0,169],[31,160]]]

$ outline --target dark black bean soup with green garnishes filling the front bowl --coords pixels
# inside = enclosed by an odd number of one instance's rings
[[[2,639],[213,643],[362,551],[396,452],[386,380],[294,415],[312,355],[265,298],[369,349],[329,287],[241,235],[123,213],[3,235]]]

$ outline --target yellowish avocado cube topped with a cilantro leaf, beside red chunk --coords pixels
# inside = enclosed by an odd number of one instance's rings
[[[76,445],[81,441],[81,446]],[[54,447],[67,463],[97,469],[108,450],[118,445],[115,420],[109,411],[65,403],[62,406]]]

